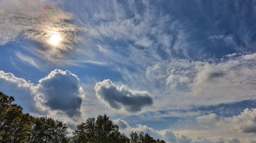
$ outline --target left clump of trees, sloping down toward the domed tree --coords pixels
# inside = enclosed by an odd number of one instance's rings
[[[34,118],[0,92],[0,142],[68,142],[66,124],[52,118]]]

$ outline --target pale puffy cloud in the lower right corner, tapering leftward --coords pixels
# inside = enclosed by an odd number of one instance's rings
[[[190,138],[201,136],[213,142],[255,142],[255,112],[255,108],[246,108],[240,115],[226,118],[210,113],[209,115],[196,118],[198,121],[196,126],[199,128],[177,130],[174,132],[187,135]]]

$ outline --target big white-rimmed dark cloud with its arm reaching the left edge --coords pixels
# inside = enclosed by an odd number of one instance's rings
[[[55,69],[48,76],[40,79],[37,85],[23,78],[15,77],[12,73],[0,71],[0,81],[2,81],[0,85],[3,88],[0,90],[15,88],[18,92],[14,94],[14,97],[18,99],[18,102],[23,101],[31,104],[24,105],[25,107],[36,108],[28,109],[31,112],[51,114],[54,111],[59,115],[62,114],[61,112],[65,112],[69,117],[80,115],[84,92],[79,87],[79,78],[70,71]],[[23,104],[23,102],[20,103]]]

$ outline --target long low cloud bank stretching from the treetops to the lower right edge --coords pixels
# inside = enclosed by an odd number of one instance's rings
[[[201,126],[205,122],[216,123],[211,125],[214,128],[201,130],[155,130],[141,124],[131,127],[126,121],[121,119],[116,119],[113,122],[119,125],[121,127],[120,130],[125,134],[130,134],[132,131],[142,131],[152,135],[154,138],[164,139],[170,143],[253,143],[256,141],[254,134],[248,133],[255,132],[256,129],[254,126],[255,110],[255,108],[247,108],[240,115],[233,116],[232,118],[220,118],[214,113],[199,116],[196,119],[202,122],[199,122],[197,126]],[[243,132],[244,137],[241,138],[239,131]]]

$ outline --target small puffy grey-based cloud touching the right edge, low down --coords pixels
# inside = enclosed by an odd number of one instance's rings
[[[231,121],[231,126],[244,133],[256,133],[256,108],[246,108],[240,115],[233,116],[228,120]]]

